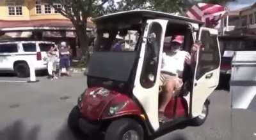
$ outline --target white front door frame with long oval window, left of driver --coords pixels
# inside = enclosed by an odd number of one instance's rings
[[[155,131],[159,129],[159,76],[167,23],[168,20],[147,20],[132,91]],[[150,41],[150,38],[154,39]]]

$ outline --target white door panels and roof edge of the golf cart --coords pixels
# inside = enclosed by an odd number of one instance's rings
[[[124,11],[120,13],[113,13],[110,15],[96,18],[96,22],[105,18],[114,18],[120,15],[140,13],[149,17],[147,19],[147,26],[143,34],[143,41],[140,50],[140,59],[138,60],[138,67],[136,69],[136,78],[134,80],[134,88],[132,90],[134,97],[138,100],[141,107],[145,111],[145,116],[152,129],[156,132],[159,130],[159,77],[161,73],[162,53],[164,45],[164,36],[166,33],[166,26],[169,22],[186,24],[191,27],[192,32],[189,36],[196,40],[202,40],[203,46],[197,51],[195,73],[193,78],[193,90],[189,92],[185,99],[188,102],[188,114],[190,118],[195,118],[202,113],[205,101],[209,95],[214,91],[218,85],[220,76],[220,48],[218,43],[218,31],[216,29],[209,29],[203,27],[203,23],[196,20],[191,20],[186,17],[179,17],[168,13],[148,10]],[[154,32],[152,30],[159,29]],[[157,57],[157,71],[156,76],[153,76],[153,83],[149,87],[141,84],[141,73],[143,71],[143,63],[145,52],[147,50],[147,37],[150,33],[156,33],[159,38],[159,56]],[[203,41],[204,38],[210,39]],[[189,46],[191,47],[191,46]],[[154,72],[152,72],[154,73]],[[149,75],[148,75],[149,76]]]

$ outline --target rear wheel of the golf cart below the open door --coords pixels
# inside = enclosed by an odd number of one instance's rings
[[[205,120],[207,119],[208,113],[209,113],[209,101],[207,100],[204,103],[202,114],[191,120],[192,125],[193,126],[202,125],[205,122]]]

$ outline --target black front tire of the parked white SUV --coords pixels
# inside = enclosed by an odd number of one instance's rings
[[[29,77],[29,66],[26,62],[19,62],[14,65],[14,71],[19,78]]]

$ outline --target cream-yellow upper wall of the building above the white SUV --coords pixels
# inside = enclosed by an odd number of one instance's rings
[[[5,0],[0,0],[0,20],[40,20],[40,19],[67,19],[59,13],[36,15],[35,0],[24,0],[22,15],[8,15],[8,6]]]

